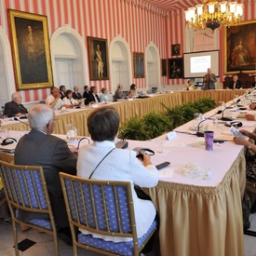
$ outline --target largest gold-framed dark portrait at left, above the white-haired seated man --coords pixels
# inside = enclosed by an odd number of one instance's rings
[[[53,86],[47,16],[8,9],[18,89]]]

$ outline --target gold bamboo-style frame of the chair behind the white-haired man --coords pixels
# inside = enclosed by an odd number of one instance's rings
[[[2,158],[1,158],[2,159]],[[20,180],[17,179],[17,171],[20,170],[22,173],[22,183],[25,184],[25,191],[27,196],[29,197],[29,204],[30,207],[25,206],[25,201],[24,197],[21,192],[21,187],[20,187]],[[26,177],[24,174],[24,171],[30,171],[32,182],[33,182],[33,187],[34,187],[34,197],[36,198],[36,202],[38,205],[38,209],[33,208],[32,206],[32,197],[31,197],[31,192],[28,187],[28,183],[26,181]],[[47,204],[47,209],[42,209],[41,203],[39,201],[40,195],[36,189],[36,183],[34,181],[34,175],[32,175],[33,171],[37,171],[39,173],[40,179],[41,179],[41,186],[43,188],[44,195],[46,197],[46,204]],[[15,179],[8,179],[7,174],[10,175],[11,177],[15,177]],[[2,177],[2,181],[4,184],[4,189],[5,193],[7,196],[7,204],[11,213],[11,220],[12,220],[12,229],[13,229],[13,236],[14,236],[14,244],[15,244],[15,253],[16,256],[19,255],[19,249],[18,249],[18,235],[17,235],[17,225],[16,223],[20,223],[23,225],[26,225],[28,227],[34,228],[38,230],[39,232],[45,232],[49,235],[53,236],[54,239],[54,247],[55,247],[55,254],[59,255],[59,246],[58,246],[58,236],[57,236],[57,229],[55,226],[54,222],[54,217],[50,205],[50,200],[49,200],[49,195],[47,191],[47,182],[45,179],[45,174],[43,171],[42,167],[36,167],[36,166],[18,166],[14,164],[9,164],[7,162],[1,161],[0,160],[0,175]],[[14,182],[14,180],[18,180],[18,185]],[[18,200],[20,198],[20,200]],[[23,209],[27,210],[30,212],[38,212],[38,213],[47,213],[49,215],[49,221],[51,223],[52,230],[37,226],[33,223],[29,222],[22,222],[16,217],[16,209]]]

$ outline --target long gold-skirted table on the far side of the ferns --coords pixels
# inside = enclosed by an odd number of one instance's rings
[[[149,98],[138,99],[133,101],[116,101],[108,102],[99,107],[111,106],[120,115],[121,124],[124,124],[129,118],[149,114],[152,111],[163,113],[166,109],[164,107],[174,107],[178,104],[195,101],[201,98],[211,98],[218,104],[219,101],[231,101],[236,95],[240,96],[246,92],[245,89],[222,89],[222,90],[195,90],[195,91],[176,91],[164,94],[150,95]],[[84,107],[81,109],[68,109],[67,112],[55,111],[58,122],[56,122],[54,132],[58,134],[67,133],[67,124],[73,123],[77,129],[79,136],[89,136],[87,118],[94,110],[92,107]],[[10,130],[30,130],[28,122],[25,119],[19,121],[3,120],[2,127]]]

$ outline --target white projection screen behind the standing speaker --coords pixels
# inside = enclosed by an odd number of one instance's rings
[[[203,77],[208,68],[220,76],[219,50],[184,53],[184,78]]]

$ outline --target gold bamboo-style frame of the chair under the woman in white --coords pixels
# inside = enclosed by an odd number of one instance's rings
[[[74,255],[75,256],[77,255],[77,247],[83,248],[83,249],[89,249],[89,250],[92,250],[92,251],[96,251],[96,252],[102,253],[104,255],[114,256],[114,255],[120,255],[120,254],[115,254],[115,253],[110,252],[110,251],[106,251],[106,250],[103,250],[103,249],[98,249],[98,248],[95,248],[95,247],[91,247],[91,246],[88,246],[88,245],[83,245],[81,243],[78,243],[77,239],[76,239],[76,236],[75,236],[74,227],[85,229],[85,230],[88,230],[89,232],[96,233],[96,234],[103,235],[103,236],[130,237],[133,240],[133,249],[134,249],[133,255],[134,256],[139,256],[140,255],[141,250],[144,248],[144,246],[149,241],[151,236],[154,235],[156,227],[151,232],[151,234],[149,236],[147,236],[147,238],[145,239],[145,241],[141,245],[141,248],[138,248],[138,237],[137,237],[137,231],[136,231],[136,222],[135,222],[135,214],[134,214],[134,207],[133,207],[133,199],[132,199],[130,182],[112,182],[112,181],[88,180],[88,179],[84,179],[84,178],[81,178],[81,177],[66,174],[66,173],[63,173],[63,172],[60,172],[60,177],[61,177],[62,192],[63,192],[63,195],[64,195],[65,205],[66,205],[67,214],[68,214],[70,227],[71,227],[71,232],[72,232],[73,249],[74,249]],[[75,214],[76,214],[76,220],[77,221],[74,221],[74,219],[72,218],[72,215],[71,215],[71,208],[70,208],[70,203],[69,203],[69,199],[68,199],[68,192],[67,192],[67,186],[65,184],[65,180],[70,180],[71,181],[72,195],[74,197],[74,209],[75,209]],[[102,231],[102,230],[99,229],[100,224],[98,222],[97,214],[96,214],[97,205],[95,203],[95,200],[94,200],[94,197],[93,197],[92,193],[91,193],[90,203],[92,204],[95,228],[88,227],[88,225],[87,225],[88,224],[88,213],[87,213],[87,210],[86,210],[87,209],[86,200],[84,200],[84,202],[83,202],[83,209],[78,209],[78,205],[76,204],[76,201],[75,201],[74,182],[75,182],[75,185],[77,185],[79,187],[78,189],[80,190],[81,195],[83,195],[83,188],[82,188],[83,184],[88,184],[90,192],[93,191],[93,188],[92,188],[93,185],[100,185],[101,186],[101,192],[103,192],[103,189],[104,189],[103,187],[104,186],[113,186],[114,187],[115,209],[117,209],[116,211],[117,211],[118,229],[119,230],[121,230],[121,218],[120,218],[121,210],[119,209],[119,205],[118,205],[116,187],[117,186],[125,187],[126,191],[128,193],[128,209],[129,209],[128,213],[129,213],[129,218],[130,218],[131,232],[130,233],[121,233],[121,232],[112,232],[110,230],[110,224],[109,224],[109,220],[108,220],[108,217],[107,217],[107,207],[106,207],[106,200],[105,200],[104,193],[101,193],[101,200],[102,200],[103,206],[104,206],[104,216],[103,217],[104,217],[104,221],[106,222],[107,231]],[[84,225],[80,222],[79,216],[81,216],[81,215],[83,215],[83,217],[81,217],[81,218],[84,218],[86,220],[87,224]]]

